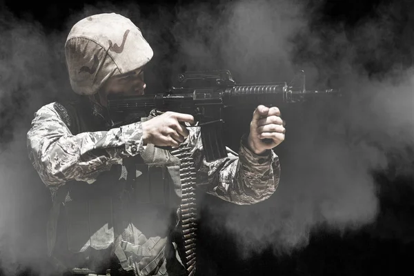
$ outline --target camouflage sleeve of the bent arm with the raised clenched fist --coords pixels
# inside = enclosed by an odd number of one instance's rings
[[[188,143],[193,148],[199,188],[235,204],[255,204],[273,195],[279,185],[279,157],[273,150],[256,155],[247,148],[246,137],[241,139],[239,154],[227,148],[228,157],[207,162],[199,128],[190,129]]]

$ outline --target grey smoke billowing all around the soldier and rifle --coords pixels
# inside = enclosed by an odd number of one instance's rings
[[[344,91],[339,101],[281,105],[288,124],[286,141],[275,148],[282,179],[273,197],[253,206],[204,206],[215,214],[206,225],[215,233],[230,233],[241,255],[268,248],[290,253],[306,246],[319,228],[344,233],[373,223],[380,211],[373,171],[388,168],[388,152],[393,152],[395,176],[406,174],[405,148],[414,141],[414,79],[395,62],[409,52],[409,47],[393,44],[399,6],[379,6],[375,17],[347,29],[342,23],[326,23],[320,10],[324,2],[316,3],[219,1],[145,12],[132,3],[99,3],[85,6],[62,30],[52,31],[11,12],[2,14],[3,274],[17,275],[26,267],[40,275],[49,273],[39,252],[46,250],[50,196],[28,161],[26,132],[33,112],[43,104],[70,97],[63,53],[66,35],[76,21],[98,12],[129,17],[154,48],[146,69],[149,92],[164,90],[180,70],[218,68],[229,69],[237,82],[246,83],[290,81],[305,70],[308,89]],[[379,68],[376,75],[370,73],[373,68]],[[250,115],[240,116],[248,126]]]

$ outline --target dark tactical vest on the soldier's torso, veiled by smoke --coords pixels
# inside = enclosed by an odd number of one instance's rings
[[[55,108],[73,135],[102,127],[93,118],[86,121],[91,117],[79,103],[56,103]],[[68,181],[57,191],[50,212],[49,254],[75,270],[104,271],[108,262],[102,260],[116,256],[117,263],[135,275],[164,274],[168,266],[186,275],[192,263],[181,259],[184,250],[194,246],[187,246],[181,236],[186,229],[179,224],[179,205],[185,204],[179,168],[179,158],[148,145],[141,155],[112,165],[92,184]]]

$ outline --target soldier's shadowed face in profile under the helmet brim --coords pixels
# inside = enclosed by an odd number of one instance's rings
[[[106,106],[108,95],[144,95],[146,84],[144,83],[143,68],[138,68],[122,75],[110,77],[99,90],[99,99],[102,106]]]

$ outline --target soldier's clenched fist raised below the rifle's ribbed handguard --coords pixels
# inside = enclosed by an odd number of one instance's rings
[[[250,122],[248,146],[253,152],[260,154],[275,148],[284,141],[286,129],[277,107],[257,106]]]

